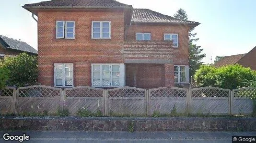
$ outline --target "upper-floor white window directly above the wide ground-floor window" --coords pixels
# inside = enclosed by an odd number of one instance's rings
[[[110,21],[92,21],[92,39],[110,39],[110,30]]]

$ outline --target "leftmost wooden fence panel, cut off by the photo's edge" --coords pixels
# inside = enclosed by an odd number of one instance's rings
[[[15,87],[0,89],[0,114],[13,112],[13,98],[15,98]]]

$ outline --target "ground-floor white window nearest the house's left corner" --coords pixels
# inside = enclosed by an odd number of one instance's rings
[[[54,63],[54,86],[73,86],[73,63]]]

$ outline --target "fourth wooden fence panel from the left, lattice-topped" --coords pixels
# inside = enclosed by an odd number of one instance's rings
[[[146,115],[146,89],[121,87],[107,90],[107,115]]]

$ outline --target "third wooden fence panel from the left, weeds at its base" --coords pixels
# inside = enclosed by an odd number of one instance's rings
[[[64,89],[64,104],[71,115],[77,115],[79,109],[91,112],[100,110],[105,115],[105,90],[87,86]]]

